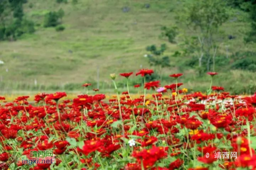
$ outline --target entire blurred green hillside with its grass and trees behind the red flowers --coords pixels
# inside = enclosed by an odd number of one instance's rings
[[[184,73],[189,92],[218,72],[213,85],[251,94],[255,42],[255,0],[0,0],[0,92],[113,92],[110,73],[149,68],[162,85]]]

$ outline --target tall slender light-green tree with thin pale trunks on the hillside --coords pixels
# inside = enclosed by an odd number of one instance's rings
[[[206,58],[206,69],[210,71],[210,62],[217,50],[218,28],[228,20],[226,2],[223,0],[185,0],[183,11],[177,17],[179,23],[192,30],[192,52],[197,52],[199,67]]]

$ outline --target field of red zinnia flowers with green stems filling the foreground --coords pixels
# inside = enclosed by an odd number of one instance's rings
[[[170,75],[170,85],[146,82],[153,70],[135,73],[143,85],[114,96],[99,89],[65,99],[65,92],[20,96],[0,106],[1,170],[256,170],[256,94],[237,96],[214,86],[189,93]],[[134,96],[129,88],[140,88]],[[154,92],[154,94],[149,94]],[[150,96],[150,98],[148,97]],[[35,104],[28,102],[34,98]],[[5,101],[5,97],[0,97]],[[54,163],[21,160],[53,151]],[[47,156],[47,155],[46,155]]]

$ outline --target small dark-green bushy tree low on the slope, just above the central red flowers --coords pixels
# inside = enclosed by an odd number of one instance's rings
[[[156,71],[160,73],[160,78],[162,79],[162,70],[165,67],[170,67],[170,58],[164,56],[164,51],[166,50],[166,45],[162,44],[158,49],[155,45],[147,46],[146,51],[150,52],[146,57],[149,59],[149,64],[155,66]]]

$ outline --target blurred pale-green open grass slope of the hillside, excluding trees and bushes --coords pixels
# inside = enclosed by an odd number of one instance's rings
[[[129,11],[124,13],[123,7]],[[24,34],[17,41],[0,42],[0,60],[5,62],[0,65],[0,76],[8,87],[34,84],[35,79],[38,85],[93,82],[97,68],[100,81],[105,82],[113,72],[149,68],[143,57],[145,46],[168,43],[159,39],[160,28],[175,24],[175,11],[181,9],[181,4],[179,0],[78,0],[76,5],[71,0],[61,4],[55,0],[28,0],[24,8],[25,17],[36,23],[36,33]],[[45,13],[60,8],[65,12],[66,29],[56,32],[54,28],[44,28]],[[243,17],[242,12],[234,11],[220,28],[225,39],[220,48],[225,53],[229,46],[228,55],[255,47],[243,44],[242,32],[249,28]],[[228,40],[228,35],[234,35],[235,40]],[[170,55],[178,49],[177,44],[167,46]],[[173,57],[171,62],[177,65],[185,59]],[[175,67],[165,73],[176,70]],[[186,72],[188,77],[194,75],[192,70]]]

